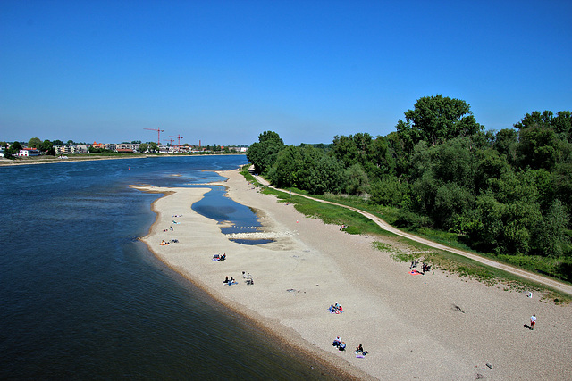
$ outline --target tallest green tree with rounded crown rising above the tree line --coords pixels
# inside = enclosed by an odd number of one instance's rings
[[[419,141],[438,145],[453,137],[469,137],[484,129],[467,102],[442,95],[419,98],[396,126],[410,152]]]

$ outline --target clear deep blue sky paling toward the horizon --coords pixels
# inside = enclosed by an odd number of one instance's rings
[[[385,136],[422,96],[487,129],[572,109],[572,2],[0,2],[0,140]]]

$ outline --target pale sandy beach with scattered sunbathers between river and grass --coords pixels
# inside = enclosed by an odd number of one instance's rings
[[[258,236],[273,243],[234,243],[216,221],[192,211],[206,188],[138,186],[168,191],[154,203],[156,222],[141,240],[216,300],[294,347],[359,379],[572,379],[571,306],[438,270],[410,275],[407,263],[372,245],[408,250],[397,240],[348,235],[258,193],[238,170],[221,175],[228,181],[219,185],[257,211],[264,227]],[[172,239],[179,242],[160,245]],[[226,261],[213,261],[218,253]],[[224,285],[227,276],[238,284]],[[343,313],[328,311],[336,302]],[[533,314],[530,330],[524,325]],[[345,352],[332,346],[338,335]],[[364,358],[353,352],[358,344]]]

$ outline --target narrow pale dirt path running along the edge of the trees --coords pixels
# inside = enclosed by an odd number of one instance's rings
[[[268,181],[266,181],[264,178],[261,178],[260,176],[255,175],[252,171],[251,171],[251,174],[252,174],[252,176],[254,176],[257,179],[257,181],[260,184],[262,184],[264,186],[268,186],[268,187],[276,189],[276,190],[280,190],[282,192],[287,192],[283,189],[279,189],[279,188],[276,188],[274,186],[271,186]],[[483,263],[484,265],[487,265],[487,266],[490,266],[490,267],[493,267],[496,269],[502,269],[502,270],[507,271],[510,274],[514,274],[518,277],[523,277],[523,278],[526,278],[528,280],[532,280],[536,283],[539,283],[541,285],[549,286],[555,290],[558,290],[561,293],[572,295],[572,286],[569,286],[567,284],[561,283],[557,280],[554,280],[554,279],[551,279],[548,277],[543,277],[543,276],[534,274],[532,272],[529,272],[529,271],[526,271],[523,269],[517,269],[515,267],[509,266],[509,265],[506,265],[506,264],[503,264],[503,263],[500,263],[497,261],[492,261],[490,259],[476,255],[474,253],[465,252],[463,250],[455,249],[453,247],[449,247],[449,246],[446,246],[444,244],[438,244],[436,242],[430,241],[430,240],[422,238],[420,236],[415,236],[415,235],[412,235],[410,233],[406,233],[404,231],[401,231],[398,228],[393,228],[390,224],[385,222],[383,219],[380,219],[379,217],[374,216],[373,214],[368,213],[367,211],[362,211],[362,210],[359,210],[357,208],[353,208],[351,206],[343,205],[341,203],[332,203],[331,201],[320,200],[320,199],[317,199],[317,198],[314,198],[314,197],[311,197],[308,195],[300,195],[300,194],[294,193],[294,192],[291,192],[291,194],[292,195],[298,195],[300,197],[306,197],[307,199],[314,200],[314,201],[317,201],[319,203],[330,203],[332,205],[341,206],[341,207],[349,209],[351,211],[356,211],[357,213],[359,213],[359,214],[367,217],[368,219],[371,219],[372,221],[374,221],[380,228],[383,228],[383,230],[389,231],[389,232],[395,234],[396,236],[403,236],[403,237],[408,238],[412,241],[418,242],[419,244],[425,244],[425,245],[433,247],[435,249],[444,250],[446,252],[462,255],[462,256],[470,258],[474,261]]]

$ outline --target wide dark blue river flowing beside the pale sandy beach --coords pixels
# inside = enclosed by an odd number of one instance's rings
[[[331,379],[137,240],[155,220],[150,204],[159,195],[128,185],[191,186],[246,162],[238,155],[0,167],[0,378]],[[205,205],[232,218],[226,204]],[[235,228],[256,227],[246,219]]]

